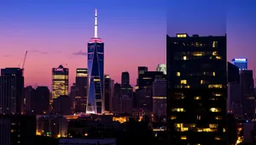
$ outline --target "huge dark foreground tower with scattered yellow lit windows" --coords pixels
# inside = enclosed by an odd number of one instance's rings
[[[169,144],[227,144],[226,36],[166,39]]]

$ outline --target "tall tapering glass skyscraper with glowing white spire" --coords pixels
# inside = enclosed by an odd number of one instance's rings
[[[101,114],[104,110],[104,43],[97,36],[97,11],[95,34],[88,43],[88,99],[86,113]]]

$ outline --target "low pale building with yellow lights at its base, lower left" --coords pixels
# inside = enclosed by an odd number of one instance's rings
[[[39,115],[37,135],[48,137],[67,137],[67,119],[62,115]]]

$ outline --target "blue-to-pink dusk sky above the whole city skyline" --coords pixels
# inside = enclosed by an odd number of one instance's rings
[[[196,3],[195,3],[196,1]],[[51,69],[87,68],[87,42],[98,11],[98,36],[105,42],[105,74],[120,82],[122,71],[137,79],[137,66],[166,63],[166,34],[224,35],[229,59],[247,58],[253,69],[256,1],[235,0],[2,0],[0,68],[17,67],[28,51],[26,86],[51,86]],[[219,3],[216,3],[219,2]],[[167,6],[168,5],[168,6]],[[167,9],[167,10],[166,10]],[[167,11],[167,14],[166,14]],[[167,24],[167,25],[166,25]]]

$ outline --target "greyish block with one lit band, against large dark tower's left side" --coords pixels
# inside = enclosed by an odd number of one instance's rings
[[[154,119],[166,118],[166,79],[155,79],[153,83]]]

